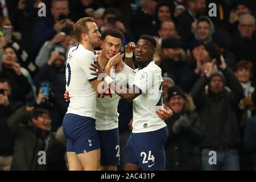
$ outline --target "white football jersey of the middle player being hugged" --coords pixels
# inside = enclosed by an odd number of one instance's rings
[[[122,84],[127,87],[127,78],[131,73],[130,67],[126,64],[122,71],[114,73],[114,69],[110,70],[110,77],[117,84]],[[112,130],[118,127],[118,112],[117,106],[120,97],[112,89],[106,89],[104,93],[97,94],[96,98],[96,130]]]

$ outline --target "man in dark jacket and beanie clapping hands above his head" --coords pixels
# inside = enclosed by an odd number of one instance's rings
[[[214,65],[214,64],[213,64]],[[201,77],[191,95],[199,112],[203,127],[201,167],[203,170],[239,170],[237,146],[240,133],[236,107],[243,97],[243,89],[221,56],[221,72]],[[225,88],[225,83],[229,89]],[[208,93],[205,86],[208,84]],[[216,164],[210,165],[210,151],[216,152]]]

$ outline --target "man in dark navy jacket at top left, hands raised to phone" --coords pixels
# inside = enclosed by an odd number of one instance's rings
[[[71,28],[73,23],[68,19],[69,9],[67,0],[53,0],[51,5],[51,16],[44,18],[36,24],[32,34],[32,48],[38,52],[44,42],[51,40],[65,27]]]

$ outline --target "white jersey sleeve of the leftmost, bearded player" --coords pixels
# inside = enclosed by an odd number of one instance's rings
[[[96,56],[93,54],[93,52],[88,52],[85,54],[82,54],[79,56],[79,65],[82,68],[82,70],[85,72],[85,75],[88,79],[88,81],[93,81],[97,79],[97,76],[90,75],[90,73],[94,73],[89,68],[92,67],[90,64],[94,64],[96,61]]]

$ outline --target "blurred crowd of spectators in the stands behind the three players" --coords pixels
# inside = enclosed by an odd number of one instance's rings
[[[40,17],[42,2],[46,16]],[[209,16],[209,3],[215,3],[216,16]],[[256,169],[256,1],[0,4],[0,171],[67,169],[61,129],[68,107],[65,60],[77,44],[72,26],[85,16],[100,32],[122,31],[122,52],[142,34],[156,39],[164,103],[174,111],[166,121],[167,170]],[[118,111],[122,164],[132,103],[120,100]],[[38,164],[39,151],[46,151],[46,165]],[[213,165],[211,151],[217,155]]]

